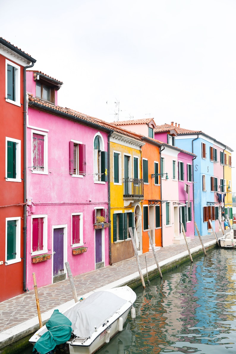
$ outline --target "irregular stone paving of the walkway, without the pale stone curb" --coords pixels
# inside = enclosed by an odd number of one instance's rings
[[[217,235],[219,238],[222,233],[217,233]],[[203,244],[213,240],[215,240],[213,234],[202,236]],[[192,249],[200,245],[199,238],[195,236],[195,239],[191,240],[189,243],[189,248]],[[182,244],[162,247],[155,253],[158,262],[161,262],[185,251],[187,251],[186,244]],[[155,264],[153,253],[150,251],[139,256],[142,269],[146,269],[145,256],[148,267]],[[133,257],[115,263],[112,266],[108,265],[107,267],[93,270],[92,272],[76,275],[73,278],[78,298],[80,299],[84,294],[99,289],[111,282],[120,280],[127,275],[136,273],[137,270],[136,258]],[[42,314],[73,299],[69,279],[38,288],[38,295]],[[32,287],[29,289],[29,292],[0,302],[0,335],[1,333],[3,334],[4,331],[19,325],[24,321],[32,319],[37,315],[32,279]]]

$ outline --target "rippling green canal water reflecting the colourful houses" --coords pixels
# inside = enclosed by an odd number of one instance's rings
[[[214,249],[136,293],[136,319],[97,354],[236,353],[236,251]]]

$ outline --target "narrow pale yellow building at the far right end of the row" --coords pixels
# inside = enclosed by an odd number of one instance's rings
[[[224,150],[224,159],[221,159],[221,164],[224,165],[224,192],[225,192],[225,215],[229,216],[230,223],[233,223],[233,210],[232,210],[232,161],[231,152],[233,150],[226,147]],[[223,157],[223,156],[222,156]]]

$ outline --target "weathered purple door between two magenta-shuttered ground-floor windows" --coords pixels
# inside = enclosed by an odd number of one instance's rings
[[[53,230],[53,276],[64,273],[63,238],[63,228]]]

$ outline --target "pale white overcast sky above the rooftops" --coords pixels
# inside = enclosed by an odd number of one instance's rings
[[[236,151],[235,18],[235,0],[1,0],[0,36],[63,81],[63,107],[113,121],[120,102],[119,120],[174,121]]]

